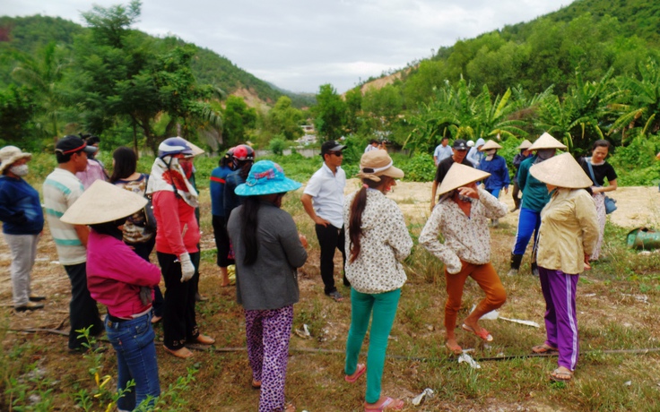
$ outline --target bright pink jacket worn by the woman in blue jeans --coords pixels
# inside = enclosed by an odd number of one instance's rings
[[[140,287],[153,287],[160,281],[158,266],[143,260],[121,240],[100,235],[93,229],[90,231],[87,288],[92,298],[108,306],[110,314],[130,318],[133,314],[143,313],[152,304],[142,304]]]

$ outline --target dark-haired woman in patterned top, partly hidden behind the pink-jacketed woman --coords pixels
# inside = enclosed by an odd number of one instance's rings
[[[145,197],[149,175],[138,173],[136,169],[137,155],[135,151],[124,146],[117,148],[112,153],[110,183]],[[150,262],[149,255],[152,254],[153,246],[156,245],[156,233],[152,229],[154,226],[149,223],[144,209],[141,209],[129,216],[122,228],[124,243],[147,262]],[[163,297],[158,285],[153,288],[153,292],[155,297],[152,322],[155,323],[162,319]]]

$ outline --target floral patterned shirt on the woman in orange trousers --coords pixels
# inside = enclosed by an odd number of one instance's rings
[[[451,199],[439,202],[421,229],[420,244],[445,263],[447,271],[456,274],[465,261],[473,264],[491,262],[491,232],[488,219],[507,214],[507,205],[491,193],[478,189],[479,202],[472,203],[470,216]],[[445,243],[440,243],[442,234]]]

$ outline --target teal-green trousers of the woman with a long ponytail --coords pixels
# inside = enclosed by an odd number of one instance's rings
[[[392,330],[392,323],[395,322],[399,297],[401,297],[401,289],[376,295],[351,289],[351,329],[346,340],[344,372],[347,375],[353,374],[358,367],[360,348],[367,334],[369,318],[373,313],[367,355],[367,393],[364,397],[367,403],[376,403],[380,399],[380,381],[385,365],[387,338]]]

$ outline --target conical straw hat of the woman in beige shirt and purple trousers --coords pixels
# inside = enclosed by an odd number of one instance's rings
[[[573,159],[570,153],[563,153],[543,160],[529,168],[529,173],[545,184],[569,189],[582,189],[593,185],[591,178]]]

